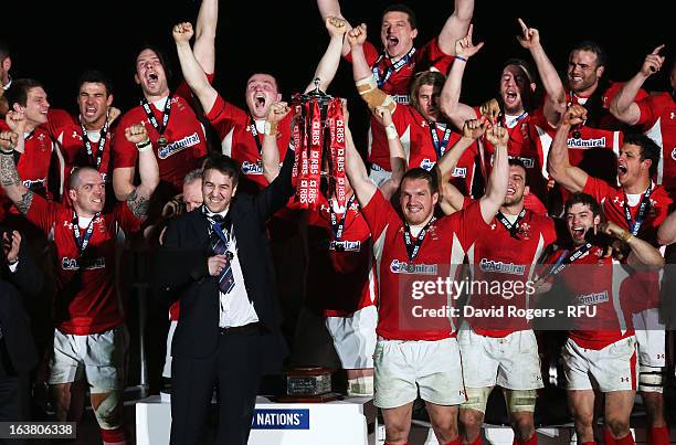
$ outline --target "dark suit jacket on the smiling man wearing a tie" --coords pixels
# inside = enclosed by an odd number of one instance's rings
[[[266,372],[279,367],[287,349],[279,330],[282,317],[265,223],[293,194],[293,162],[294,151],[287,150],[279,176],[255,197],[236,194],[228,212],[246,294],[265,331],[265,350],[260,353],[266,359],[263,363]],[[172,220],[163,245],[155,255],[154,287],[160,295],[172,300],[180,298],[181,301],[171,348],[176,358],[207,357],[218,346],[219,288],[216,277],[209,275],[207,265],[212,255],[209,223],[199,211]]]

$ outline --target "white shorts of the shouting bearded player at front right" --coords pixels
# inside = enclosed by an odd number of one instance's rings
[[[638,363],[636,338],[633,336],[600,350],[582,348],[569,338],[562,357],[569,390],[611,392],[636,389]]]

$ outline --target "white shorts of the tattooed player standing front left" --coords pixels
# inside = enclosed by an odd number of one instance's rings
[[[94,389],[122,390],[128,346],[129,333],[124,325],[88,336],[54,329],[49,383],[72,383],[86,378]]]

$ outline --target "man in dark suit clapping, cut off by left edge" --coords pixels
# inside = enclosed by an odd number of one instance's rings
[[[29,372],[38,363],[23,297],[40,294],[43,274],[19,232],[0,226],[0,422],[18,422],[29,417]]]

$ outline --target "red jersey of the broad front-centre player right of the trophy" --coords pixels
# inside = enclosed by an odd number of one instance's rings
[[[411,261],[404,242],[404,223],[380,191],[362,209],[373,237],[379,284],[377,332],[393,340],[441,340],[455,336],[447,288],[443,295],[414,294],[418,283],[454,280],[465,248],[486,233],[477,203],[434,220],[418,256]],[[418,289],[419,292],[421,289]],[[432,309],[434,312],[424,311]],[[444,310],[446,309],[446,310]]]

